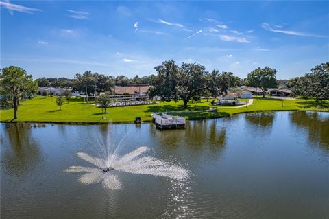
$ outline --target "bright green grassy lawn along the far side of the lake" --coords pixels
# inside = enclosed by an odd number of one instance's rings
[[[101,109],[97,106],[84,104],[81,97],[73,97],[69,103],[62,106],[62,110],[55,103],[56,97],[36,97],[19,106],[17,121],[23,122],[74,122],[74,123],[97,123],[97,122],[134,122],[134,117],[141,117],[142,121],[151,121],[151,113],[165,111],[184,111],[182,113],[171,113],[181,115],[187,119],[211,119],[225,117],[235,113],[251,111],[290,111],[290,110],[315,110],[329,111],[329,102],[315,102],[308,100],[284,100],[283,107],[281,100],[256,97],[254,105],[247,108],[223,108],[208,112],[204,111],[215,106],[210,105],[206,100],[201,103],[189,103],[188,109],[183,109],[182,102],[161,102],[155,105],[124,106],[108,108],[105,119],[101,119]],[[241,100],[246,101],[246,100]],[[13,117],[13,109],[0,110],[0,121],[9,122]]]

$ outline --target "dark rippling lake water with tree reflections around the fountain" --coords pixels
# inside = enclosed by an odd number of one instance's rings
[[[162,131],[0,129],[1,218],[329,218],[329,113],[249,113]],[[188,178],[118,171],[121,189],[110,190],[64,172],[90,166],[77,152],[99,157],[99,143],[121,139],[119,154],[147,146],[146,154],[185,168]]]

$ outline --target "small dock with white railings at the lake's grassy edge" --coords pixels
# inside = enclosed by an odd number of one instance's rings
[[[160,115],[161,114],[161,115]],[[157,128],[184,128],[186,119],[180,116],[168,115],[166,113],[153,113],[154,124]]]

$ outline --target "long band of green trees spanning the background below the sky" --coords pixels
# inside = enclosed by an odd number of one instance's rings
[[[203,65],[197,63],[185,63],[177,65],[174,60],[162,62],[162,65],[154,67],[156,75],[135,76],[105,76],[99,73],[85,71],[77,73],[73,79],[69,78],[38,78],[32,80],[21,67],[5,67],[0,69],[0,100],[1,106],[5,103],[14,108],[14,119],[17,118],[19,102],[36,94],[39,87],[71,87],[75,91],[87,91],[88,93],[109,93],[115,85],[125,86],[129,84],[150,84],[149,95],[160,96],[161,100],[182,100],[184,108],[189,100],[199,100],[201,96],[217,97],[227,93],[228,88],[247,85],[263,89],[263,97],[268,88],[278,87],[276,69],[270,67],[258,67],[247,74],[243,80],[234,76],[232,72],[206,71]],[[305,100],[329,100],[329,62],[313,67],[310,73],[302,77],[282,81],[289,87],[292,95],[301,96]],[[109,92],[106,92],[109,91]],[[103,97],[102,97],[103,98]],[[103,98],[104,99],[104,98]],[[101,99],[102,100],[102,99]],[[68,100],[69,101],[69,100]],[[105,105],[106,100],[104,100]]]

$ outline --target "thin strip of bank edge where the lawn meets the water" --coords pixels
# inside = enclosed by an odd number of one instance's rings
[[[210,120],[210,119],[221,119],[221,118],[227,118],[227,117],[232,117],[233,115],[239,115],[239,114],[247,114],[247,113],[271,113],[271,112],[280,112],[280,111],[313,111],[313,112],[325,112],[329,113],[329,111],[325,110],[314,110],[314,109],[282,109],[282,110],[255,110],[255,111],[242,111],[242,112],[236,112],[236,113],[231,113],[226,116],[222,117],[214,117],[214,118],[196,118],[196,119],[186,119],[188,121],[200,121],[200,120]],[[141,122],[141,124],[148,124],[151,123],[153,119],[146,119]],[[2,124],[65,124],[65,125],[103,125],[103,124],[134,124],[134,121],[132,122],[127,122],[127,121],[115,121],[115,122],[56,122],[56,121],[0,121]],[[138,125],[138,124],[136,124]]]

